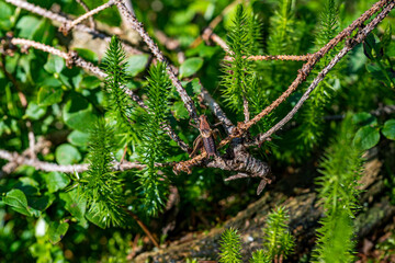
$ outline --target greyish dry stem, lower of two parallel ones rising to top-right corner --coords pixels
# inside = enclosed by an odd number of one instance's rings
[[[308,87],[308,89],[305,91],[303,96],[300,99],[300,101],[296,103],[296,105],[292,108],[292,111],[286,114],[286,116],[281,119],[278,124],[275,124],[273,127],[271,127],[268,132],[266,132],[262,135],[258,135],[251,144],[248,145],[259,145],[262,141],[267,140],[272,136],[275,132],[281,129],[295,114],[296,112],[302,107],[303,103],[308,99],[309,94],[314,91],[315,88],[319,84],[320,81],[324,80],[325,76],[335,67],[336,64],[340,61],[342,57],[345,57],[350,50],[352,50],[353,47],[356,47],[358,44],[362,43],[364,38],[366,38],[368,34],[372,32],[377,24],[390,13],[390,11],[394,8],[395,2],[391,1],[388,5],[384,8],[384,10],[373,19],[371,23],[369,23],[363,30],[358,32],[358,34],[348,43],[346,46],[334,57],[334,59],[318,73],[318,76],[314,79],[312,84]]]

